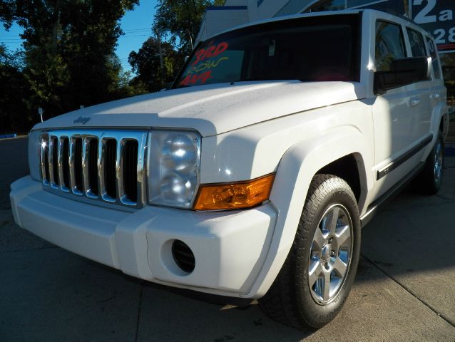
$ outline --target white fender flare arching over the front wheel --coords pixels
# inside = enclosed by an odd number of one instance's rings
[[[368,175],[372,173],[367,166],[372,165],[368,146],[371,144],[357,128],[344,126],[322,133],[317,139],[301,140],[285,152],[270,194],[270,202],[278,212],[275,231],[262,269],[246,297],[264,296],[275,281],[294,242],[307,191],[318,170],[341,157],[354,155],[362,188],[360,202],[365,202],[364,194],[374,186]]]

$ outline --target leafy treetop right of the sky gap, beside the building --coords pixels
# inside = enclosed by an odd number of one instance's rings
[[[160,0],[156,6],[154,31],[169,35],[170,43],[176,43],[180,52],[188,56],[193,50],[193,43],[205,9],[208,6],[220,6],[224,0]]]

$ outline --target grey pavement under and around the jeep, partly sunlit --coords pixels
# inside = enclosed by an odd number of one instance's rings
[[[455,341],[455,153],[438,195],[404,190],[362,230],[337,318],[297,331],[254,303],[134,279],[16,226],[9,184],[29,173],[26,145],[0,140],[0,341]]]

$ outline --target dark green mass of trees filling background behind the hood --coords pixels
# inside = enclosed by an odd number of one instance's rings
[[[153,29],[128,61],[137,76],[123,73],[114,50],[118,24],[139,0],[0,0],[0,24],[16,21],[24,51],[0,45],[1,130],[24,133],[38,120],[165,88],[183,65],[206,6],[224,0],[160,0]],[[178,46],[178,51],[175,51]],[[131,80],[131,81],[130,81]]]

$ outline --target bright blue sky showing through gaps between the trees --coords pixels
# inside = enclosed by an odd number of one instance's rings
[[[116,53],[125,71],[131,70],[131,66],[128,64],[130,52],[138,51],[142,43],[151,35],[157,3],[158,0],[141,0],[139,6],[136,6],[133,11],[126,12],[121,19],[121,28],[125,34],[118,38]],[[21,48],[20,33],[22,33],[22,29],[16,24],[9,31],[5,31],[3,25],[0,25],[0,43],[5,43],[9,50],[15,51],[17,48]]]

